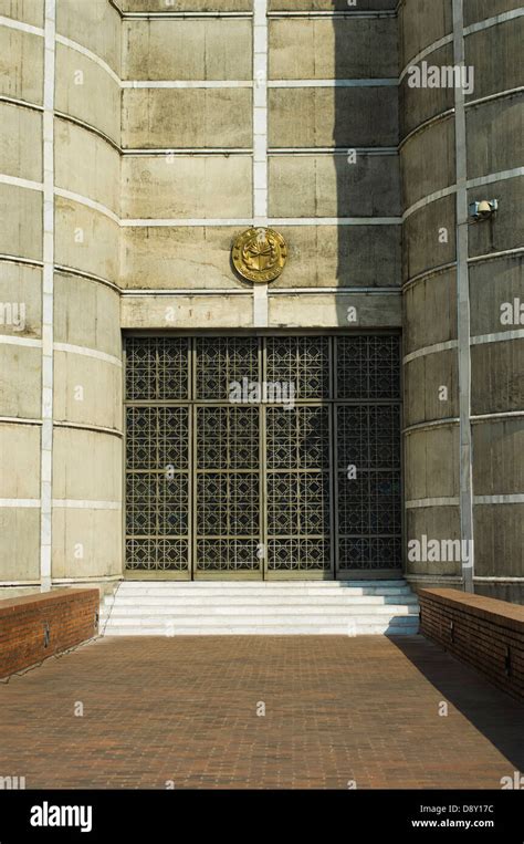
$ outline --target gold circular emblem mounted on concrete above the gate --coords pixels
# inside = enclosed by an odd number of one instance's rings
[[[263,227],[239,235],[231,250],[233,267],[249,281],[273,281],[287,259],[287,244],[277,231]]]

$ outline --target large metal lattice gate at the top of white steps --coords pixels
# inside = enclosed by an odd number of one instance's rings
[[[397,335],[129,336],[128,577],[400,567]]]

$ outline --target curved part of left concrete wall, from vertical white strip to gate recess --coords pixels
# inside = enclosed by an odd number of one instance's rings
[[[56,7],[53,582],[122,571],[120,20]]]

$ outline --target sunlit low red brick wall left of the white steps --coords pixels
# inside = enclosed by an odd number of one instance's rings
[[[0,677],[95,636],[98,606],[98,590],[64,588],[0,601]]]

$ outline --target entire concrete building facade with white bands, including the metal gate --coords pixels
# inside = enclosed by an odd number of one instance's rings
[[[404,572],[524,602],[523,11],[0,0],[2,588]],[[273,281],[232,265],[250,228],[286,242]],[[223,393],[282,373],[285,441]]]

